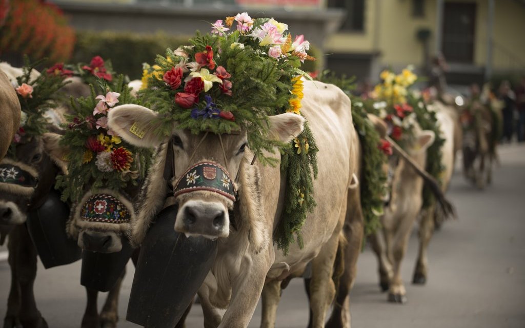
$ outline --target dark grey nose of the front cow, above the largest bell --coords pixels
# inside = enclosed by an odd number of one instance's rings
[[[222,230],[225,224],[225,211],[217,207],[188,206],[184,208],[184,225],[198,231]]]

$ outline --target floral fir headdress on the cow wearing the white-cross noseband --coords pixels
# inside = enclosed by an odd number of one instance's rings
[[[117,103],[138,103],[123,80],[122,75],[112,84],[100,79],[98,89],[106,92],[97,94],[90,85],[90,97],[71,101],[74,115],[60,140],[68,147],[68,176],[57,177],[62,200],[78,202],[88,184],[92,191],[102,187],[121,191],[144,177],[149,151],[122,141],[107,126],[107,114]]]

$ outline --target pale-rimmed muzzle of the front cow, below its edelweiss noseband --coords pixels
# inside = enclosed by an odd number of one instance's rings
[[[184,202],[179,202],[175,231],[182,232],[186,237],[200,236],[212,240],[228,237],[228,208],[216,198],[192,197]]]

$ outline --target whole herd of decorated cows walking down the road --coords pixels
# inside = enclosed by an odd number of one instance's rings
[[[22,69],[5,62],[0,64],[0,170],[5,168],[0,175],[0,228],[2,243],[8,235],[12,270],[4,327],[43,328],[47,323],[37,310],[33,293],[37,250],[25,221],[31,210],[46,201],[54,189],[56,176],[67,176],[67,147],[60,143],[66,121],[61,118],[71,109],[64,103],[47,113],[46,132],[17,143],[16,157],[6,155],[19,131],[20,103],[15,88],[19,87],[17,77],[23,74]],[[37,71],[31,72],[33,79],[39,75]],[[73,99],[90,96],[89,86],[81,80],[67,80],[70,83],[59,92]],[[130,83],[135,89],[137,84],[140,82]],[[431,188],[437,202],[422,209],[424,185],[436,183],[425,172],[426,151],[436,139],[435,133],[423,130],[417,122],[412,123],[414,137],[400,147],[388,137],[390,128],[385,120],[370,114],[375,131],[382,139],[391,141],[393,154],[385,157],[383,163],[389,192],[382,195],[385,199],[381,209],[382,226],[374,234],[365,236],[360,182],[367,162],[362,157],[359,131],[352,121],[351,100],[332,84],[320,81],[303,84],[301,112],[316,136],[319,152],[318,176],[313,180],[317,206],[301,229],[301,247],[298,243],[292,244],[285,253],[274,245],[273,232],[279,224],[285,198],[284,177],[278,166],[252,161],[254,154],[246,147],[245,131],[221,136],[193,134],[174,126],[171,137],[162,139],[151,123],[158,118],[158,113],[132,103],[113,107],[108,112],[107,124],[125,142],[155,149],[149,158],[150,168],[145,179],[138,182],[140,185],[128,189],[125,197],[103,189],[131,207],[132,218],[113,226],[107,222],[70,222],[67,226],[70,238],[76,238],[80,248],[103,253],[118,252],[123,244],[131,243],[137,247],[132,257],[136,262],[140,245],[150,226],[155,224],[155,216],[165,207],[177,204],[176,231],[188,238],[204,236],[217,240],[211,270],[198,289],[206,327],[247,327],[261,296],[261,326],[274,327],[281,290],[294,277],[303,277],[307,282],[309,326],[349,327],[348,295],[364,239],[377,255],[379,283],[383,291],[388,291],[388,301],[404,303],[406,290],[400,267],[410,232],[419,218],[419,252],[413,283],[424,284],[428,274],[426,250],[436,224],[442,222],[444,212],[447,214],[449,204],[443,194],[453,174],[456,154],[463,149],[466,177],[483,186],[486,179],[490,179],[490,163],[496,158],[491,142],[495,139],[491,128],[494,117],[482,110],[476,112],[483,108],[481,102],[461,108],[444,101],[446,96],[443,96],[427,105],[428,110],[435,112],[438,131],[444,139],[440,146],[444,170],[439,176],[439,188]],[[466,111],[470,114],[465,114]],[[304,118],[290,113],[270,117],[268,135],[289,143],[303,130]],[[137,133],[133,130],[137,122],[149,128]],[[474,128],[467,129],[469,124]],[[275,154],[269,156],[279,160]],[[175,183],[188,168],[205,161],[220,164],[224,176],[232,179],[237,190],[235,202],[228,195],[202,190],[177,197],[170,194],[170,189],[176,189]],[[37,184],[9,186],[5,179],[9,167],[20,168]],[[89,188],[82,193],[82,202],[92,195]],[[78,221],[80,209],[75,210],[75,204],[69,205],[70,220]],[[97,311],[97,291],[86,288],[83,328],[117,326],[120,282],[121,278],[112,287],[101,313]],[[184,317],[176,326],[183,325]]]

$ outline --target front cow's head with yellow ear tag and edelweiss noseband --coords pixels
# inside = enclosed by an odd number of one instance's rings
[[[247,131],[214,134],[177,129],[169,137],[159,136],[157,114],[139,105],[121,105],[108,115],[108,126],[125,141],[142,147],[161,146],[157,162],[164,170],[164,184],[169,184],[179,205],[175,230],[210,239],[228,237],[229,214],[233,209],[241,163],[253,154],[247,149]],[[268,137],[288,142],[299,135],[304,119],[286,113],[269,118]],[[248,155],[250,154],[250,155]],[[159,164],[159,163],[158,163]],[[248,164],[249,165],[249,164]],[[164,195],[162,195],[164,197]]]

